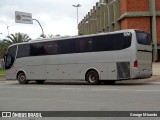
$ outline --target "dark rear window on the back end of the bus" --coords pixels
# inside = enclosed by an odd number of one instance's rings
[[[136,31],[137,42],[142,45],[151,45],[151,36],[145,32]]]

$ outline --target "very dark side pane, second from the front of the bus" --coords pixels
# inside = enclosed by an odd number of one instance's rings
[[[31,56],[44,55],[43,43],[32,43],[32,44],[30,44],[30,55]]]

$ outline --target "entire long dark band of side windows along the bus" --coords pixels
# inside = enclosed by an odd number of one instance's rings
[[[131,37],[127,32],[19,45],[17,57],[122,50],[131,46]]]

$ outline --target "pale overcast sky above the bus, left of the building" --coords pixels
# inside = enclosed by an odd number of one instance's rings
[[[72,5],[78,3],[79,21],[95,6],[99,0],[0,0],[0,39],[9,33],[26,33],[36,39],[42,33],[37,22],[33,24],[15,23],[15,11],[31,13],[38,19],[44,33],[60,35],[77,35],[77,12]]]

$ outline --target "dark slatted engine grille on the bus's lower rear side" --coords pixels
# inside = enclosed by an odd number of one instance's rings
[[[130,62],[117,62],[118,79],[130,78]]]

